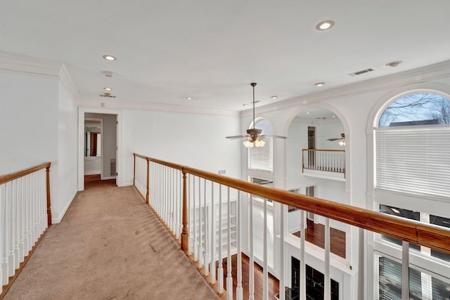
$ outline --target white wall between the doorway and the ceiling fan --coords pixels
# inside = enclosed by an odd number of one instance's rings
[[[240,178],[239,118],[150,110],[123,110],[124,185],[133,182],[133,153]]]

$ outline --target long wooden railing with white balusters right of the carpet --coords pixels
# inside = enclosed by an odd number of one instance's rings
[[[325,278],[323,282],[330,282],[330,222],[338,221],[359,228],[357,299],[364,299],[364,280],[366,280],[364,278],[364,230],[403,241],[401,254],[403,258],[402,278],[404,278],[401,282],[402,299],[409,299],[409,277],[407,275],[409,243],[450,253],[450,230],[448,228],[439,228],[418,221],[381,214],[377,211],[299,195],[277,188],[268,188],[264,185],[164,162],[136,153],[134,154],[134,186],[160,217],[160,220],[165,223],[169,232],[179,241],[184,252],[191,256],[205,278],[208,278],[210,284],[217,289],[219,294],[223,294],[223,297],[226,296],[226,299],[259,299],[259,296],[255,296],[255,270],[253,268],[254,240],[258,233],[263,235],[264,240],[264,254],[260,261],[263,268],[263,286],[260,298],[269,299],[268,200],[300,209],[300,232],[302,233],[305,233],[304,220],[307,211],[325,217],[323,247]],[[244,201],[249,205],[241,205]],[[254,213],[252,210],[255,202],[259,202],[259,205],[263,207],[263,228],[255,228],[253,225]],[[241,219],[243,207],[248,207],[248,223],[243,223]],[[287,207],[283,211],[287,212]],[[281,214],[279,218],[277,222],[283,224],[285,214]],[[280,250],[276,255],[279,261],[284,262],[285,233],[283,226],[279,228],[281,231],[279,234]],[[242,230],[248,230],[250,237],[245,251],[243,249],[244,241],[241,240]],[[300,294],[300,299],[305,299],[307,266],[305,264],[304,234],[300,236],[298,247],[300,248],[300,291],[303,293]],[[243,252],[250,261],[248,289],[243,287],[243,262],[241,261]],[[237,270],[231,270],[233,254],[237,254]],[[224,262],[226,270],[224,270]],[[281,263],[280,268],[278,273],[279,290],[284,290],[287,286],[284,278],[284,263]],[[233,274],[236,275],[233,276]],[[335,299],[329,284],[325,283],[322,288],[325,299]],[[279,299],[285,299],[285,293],[280,293]]]

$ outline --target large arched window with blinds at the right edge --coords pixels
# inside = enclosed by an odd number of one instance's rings
[[[450,100],[415,93],[395,100],[375,129],[375,188],[450,201]]]

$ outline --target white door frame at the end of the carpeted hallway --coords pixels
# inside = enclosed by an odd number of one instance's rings
[[[78,190],[84,190],[84,114],[86,112],[117,115],[117,176],[115,178],[115,182],[117,186],[122,186],[122,110],[96,107],[78,107]]]

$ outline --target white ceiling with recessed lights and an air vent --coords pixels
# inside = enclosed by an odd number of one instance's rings
[[[85,101],[244,110],[252,81],[266,105],[450,60],[449,12],[448,0],[1,1],[0,51],[65,63]],[[319,32],[323,20],[335,27]],[[106,86],[115,99],[98,96]]]

